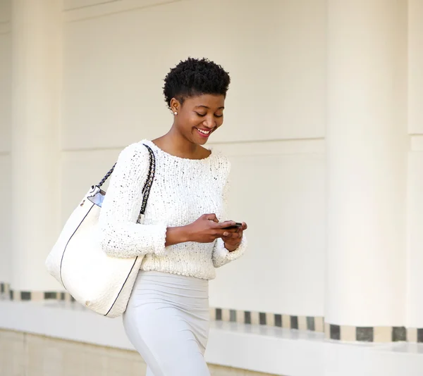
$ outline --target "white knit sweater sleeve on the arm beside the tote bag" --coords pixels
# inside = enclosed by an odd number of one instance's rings
[[[144,145],[130,145],[119,155],[99,215],[100,243],[109,256],[166,253],[167,225],[137,223],[148,171],[149,152]]]

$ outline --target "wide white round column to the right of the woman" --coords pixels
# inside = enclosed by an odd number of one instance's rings
[[[405,325],[407,1],[328,1],[329,324]]]

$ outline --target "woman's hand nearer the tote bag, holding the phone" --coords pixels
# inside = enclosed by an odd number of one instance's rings
[[[195,222],[187,225],[188,242],[212,243],[219,237],[226,237],[236,229],[225,230],[224,227],[235,225],[233,220],[219,222],[215,214],[204,214]]]

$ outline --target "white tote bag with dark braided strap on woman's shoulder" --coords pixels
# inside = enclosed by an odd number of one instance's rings
[[[156,166],[152,149],[145,147],[149,151],[149,173],[137,223],[144,218]],[[143,258],[114,258],[100,246],[98,220],[106,194],[101,187],[114,167],[75,208],[45,263],[49,273],[76,301],[109,318],[125,312]]]

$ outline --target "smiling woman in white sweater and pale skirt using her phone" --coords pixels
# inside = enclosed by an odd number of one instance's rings
[[[230,164],[202,146],[223,124],[230,77],[212,61],[188,58],[164,81],[173,125],[121,152],[99,218],[102,246],[110,256],[145,255],[123,323],[147,375],[204,376],[208,280],[246,246],[245,223],[226,228],[235,225],[225,216]],[[140,225],[149,170],[143,144],[154,151],[156,168]]]

